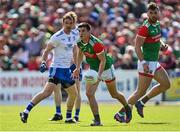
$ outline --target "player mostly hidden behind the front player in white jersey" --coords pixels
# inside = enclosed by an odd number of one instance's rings
[[[76,36],[79,36],[79,31],[78,28],[76,27],[76,22],[77,22],[77,15],[75,12],[69,12],[69,14],[73,17],[74,19],[74,28],[72,29],[73,34],[75,34]],[[67,41],[68,43],[68,41]],[[74,48],[74,55],[73,55],[73,59],[71,62],[71,72],[73,72],[76,69],[76,65],[74,60],[76,60],[76,56],[77,56],[77,52],[76,52],[76,48]],[[80,80],[76,80],[75,84],[76,84],[76,88],[78,91],[77,97],[76,97],[76,101],[75,101],[75,115],[74,115],[74,119],[76,121],[79,121],[79,113],[80,113],[80,107],[81,107],[81,94],[80,94],[80,81],[82,79],[82,73],[80,73]],[[62,113],[61,113],[61,101],[62,101],[62,94],[61,94],[61,89],[59,87],[57,87],[54,90],[54,101],[55,101],[55,105],[56,105],[56,113],[54,114],[54,116],[50,119],[50,121],[59,121],[63,119]]]

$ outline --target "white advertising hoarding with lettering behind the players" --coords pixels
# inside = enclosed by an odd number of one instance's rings
[[[1,72],[0,73],[0,103],[18,103],[30,101],[32,97],[43,89],[48,79],[48,73],[40,72]],[[136,70],[116,70],[117,89],[124,93],[126,99],[135,91],[137,86]],[[85,82],[82,81],[81,97],[87,101]],[[97,91],[96,98],[98,101],[116,101],[111,98],[104,82],[101,82]],[[160,101],[161,95],[153,98]],[[52,101],[52,96],[43,102]]]

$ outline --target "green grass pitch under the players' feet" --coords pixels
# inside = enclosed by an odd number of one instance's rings
[[[54,114],[53,106],[37,105],[28,118],[28,123],[20,121],[19,112],[24,106],[0,106],[0,131],[180,131],[180,106],[147,106],[145,118],[133,110],[129,124],[120,124],[113,119],[119,109],[118,104],[100,104],[101,120],[104,126],[90,127],[92,114],[88,104],[82,104],[80,122],[65,124],[64,120],[50,122]],[[65,104],[62,106],[65,117]]]

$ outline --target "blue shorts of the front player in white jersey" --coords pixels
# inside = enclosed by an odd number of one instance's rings
[[[50,67],[49,69],[49,82],[56,85],[60,83],[62,88],[68,88],[75,83],[70,68],[54,67]]]

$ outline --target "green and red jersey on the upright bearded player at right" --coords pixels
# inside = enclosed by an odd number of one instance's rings
[[[157,61],[159,58],[161,37],[159,21],[155,24],[150,24],[148,20],[145,20],[139,28],[138,36],[145,38],[145,42],[142,46],[144,60]]]

